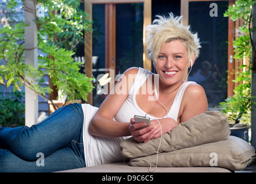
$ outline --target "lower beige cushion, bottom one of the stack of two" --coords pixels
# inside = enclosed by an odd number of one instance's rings
[[[250,144],[229,136],[227,140],[158,154],[158,167],[218,166],[236,171],[243,170],[254,158],[255,150]],[[157,154],[131,161],[131,166],[149,167],[150,162],[153,167],[157,163]]]

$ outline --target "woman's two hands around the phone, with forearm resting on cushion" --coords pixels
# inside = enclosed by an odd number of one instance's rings
[[[151,120],[151,125],[149,127],[145,127],[146,122],[135,123],[133,118],[131,118],[130,121],[131,124],[129,125],[128,129],[131,132],[131,135],[134,137],[135,140],[143,143],[147,143],[150,139],[157,139],[164,133],[169,132],[173,128],[177,127],[177,122],[172,118]]]

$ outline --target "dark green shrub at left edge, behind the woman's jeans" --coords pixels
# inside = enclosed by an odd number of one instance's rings
[[[16,91],[0,96],[0,126],[16,127],[25,124],[25,105],[21,101],[23,93]]]

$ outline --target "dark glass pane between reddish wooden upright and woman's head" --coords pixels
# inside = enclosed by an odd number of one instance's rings
[[[143,3],[116,5],[116,74],[143,67]]]

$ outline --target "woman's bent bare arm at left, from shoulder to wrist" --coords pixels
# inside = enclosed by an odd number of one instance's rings
[[[89,128],[91,135],[103,137],[121,137],[131,135],[128,129],[130,122],[116,122],[112,119],[128,97],[128,91],[133,83],[133,81],[132,83],[131,81],[128,82],[129,77],[131,77],[131,75],[136,75],[137,73],[138,68],[129,68],[118,80],[116,84],[118,89],[116,89],[116,86],[114,87],[91,120]],[[133,79],[134,78],[135,77],[133,77]],[[122,90],[122,93],[117,90]]]

